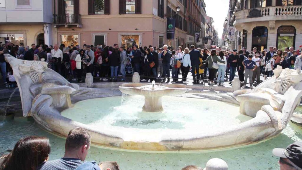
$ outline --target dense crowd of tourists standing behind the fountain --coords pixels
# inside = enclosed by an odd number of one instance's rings
[[[164,45],[162,48],[133,45],[127,49],[117,44],[114,46],[86,45],[65,47],[31,44],[31,47],[21,43],[20,46],[12,43],[0,47],[0,67],[3,82],[14,87],[15,79],[9,64],[5,62],[4,55],[10,55],[24,60],[46,61],[48,67],[63,77],[72,77],[73,81],[83,82],[86,73],[99,77],[101,81],[125,81],[126,74],[131,76],[138,72],[141,81],[169,83],[189,83],[187,77],[191,73],[193,84],[208,83],[209,85],[224,85],[225,81],[232,84],[236,71],[240,82],[246,87],[261,82],[273,75],[273,70],[279,65],[282,68],[301,69],[302,59],[294,47],[285,48],[284,51],[274,47],[259,51],[253,48],[248,52],[246,47],[241,50],[177,49]],[[171,73],[171,75],[170,75]],[[182,76],[179,77],[179,74]],[[228,77],[229,75],[229,77]],[[180,80],[180,81],[179,81]]]

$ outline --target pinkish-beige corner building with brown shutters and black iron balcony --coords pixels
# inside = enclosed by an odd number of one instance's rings
[[[57,36],[54,39],[68,46],[115,43],[126,47],[133,44],[184,46],[184,3],[179,0],[55,0],[53,24]],[[165,14],[176,20],[175,39],[169,41]]]

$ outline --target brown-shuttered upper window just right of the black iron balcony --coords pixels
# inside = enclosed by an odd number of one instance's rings
[[[110,0],[88,0],[88,15],[110,14]]]

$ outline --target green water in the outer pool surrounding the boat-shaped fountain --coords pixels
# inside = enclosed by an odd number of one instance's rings
[[[65,139],[42,130],[32,118],[0,121],[0,152],[12,149],[21,137],[28,135],[49,137],[52,148],[50,160],[63,156]],[[118,162],[122,170],[180,170],[186,165],[205,167],[209,159],[220,158],[227,162],[230,170],[277,170],[279,169],[278,158],[272,156],[272,149],[284,148],[301,139],[302,128],[290,123],[280,135],[271,140],[228,150],[141,153],[92,146],[86,160],[97,162],[114,160]]]

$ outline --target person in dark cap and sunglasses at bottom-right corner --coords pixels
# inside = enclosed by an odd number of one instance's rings
[[[285,149],[275,148],[273,155],[280,158],[280,170],[302,169],[302,142],[294,142]]]

